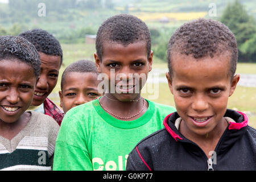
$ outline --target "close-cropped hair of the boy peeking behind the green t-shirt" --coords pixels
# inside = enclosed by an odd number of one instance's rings
[[[95,62],[89,61],[89,60],[75,61],[74,63],[68,65],[68,67],[64,70],[64,72],[61,76],[61,83],[60,83],[61,90],[63,89],[63,85],[64,85],[64,82],[65,82],[65,77],[70,72],[95,73],[96,75],[99,74],[97,72],[97,67],[96,67]],[[77,78],[77,79],[79,79],[79,78]]]

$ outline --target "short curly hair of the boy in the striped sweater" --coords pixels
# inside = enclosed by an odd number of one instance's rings
[[[26,63],[34,69],[36,78],[40,74],[41,61],[33,44],[18,36],[0,36],[0,61],[16,60]]]

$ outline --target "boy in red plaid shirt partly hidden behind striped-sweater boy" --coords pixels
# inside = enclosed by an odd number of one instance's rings
[[[19,36],[34,44],[41,60],[40,77],[29,110],[49,115],[60,125],[64,113],[47,98],[57,84],[59,69],[63,62],[63,51],[60,43],[49,32],[41,29],[26,31]]]

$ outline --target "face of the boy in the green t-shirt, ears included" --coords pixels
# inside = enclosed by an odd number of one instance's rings
[[[97,53],[94,53],[94,58],[97,71],[106,75],[108,92],[119,101],[138,98],[148,72],[152,69],[153,53],[151,51],[150,57],[147,57],[146,42],[135,42],[127,46],[105,42],[103,52],[101,61]]]

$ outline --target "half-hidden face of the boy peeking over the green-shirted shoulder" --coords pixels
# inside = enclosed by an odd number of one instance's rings
[[[97,80],[96,73],[69,72],[65,76],[63,90],[59,92],[60,106],[63,107],[64,113],[72,107],[102,96],[97,90],[98,84],[100,81]]]

